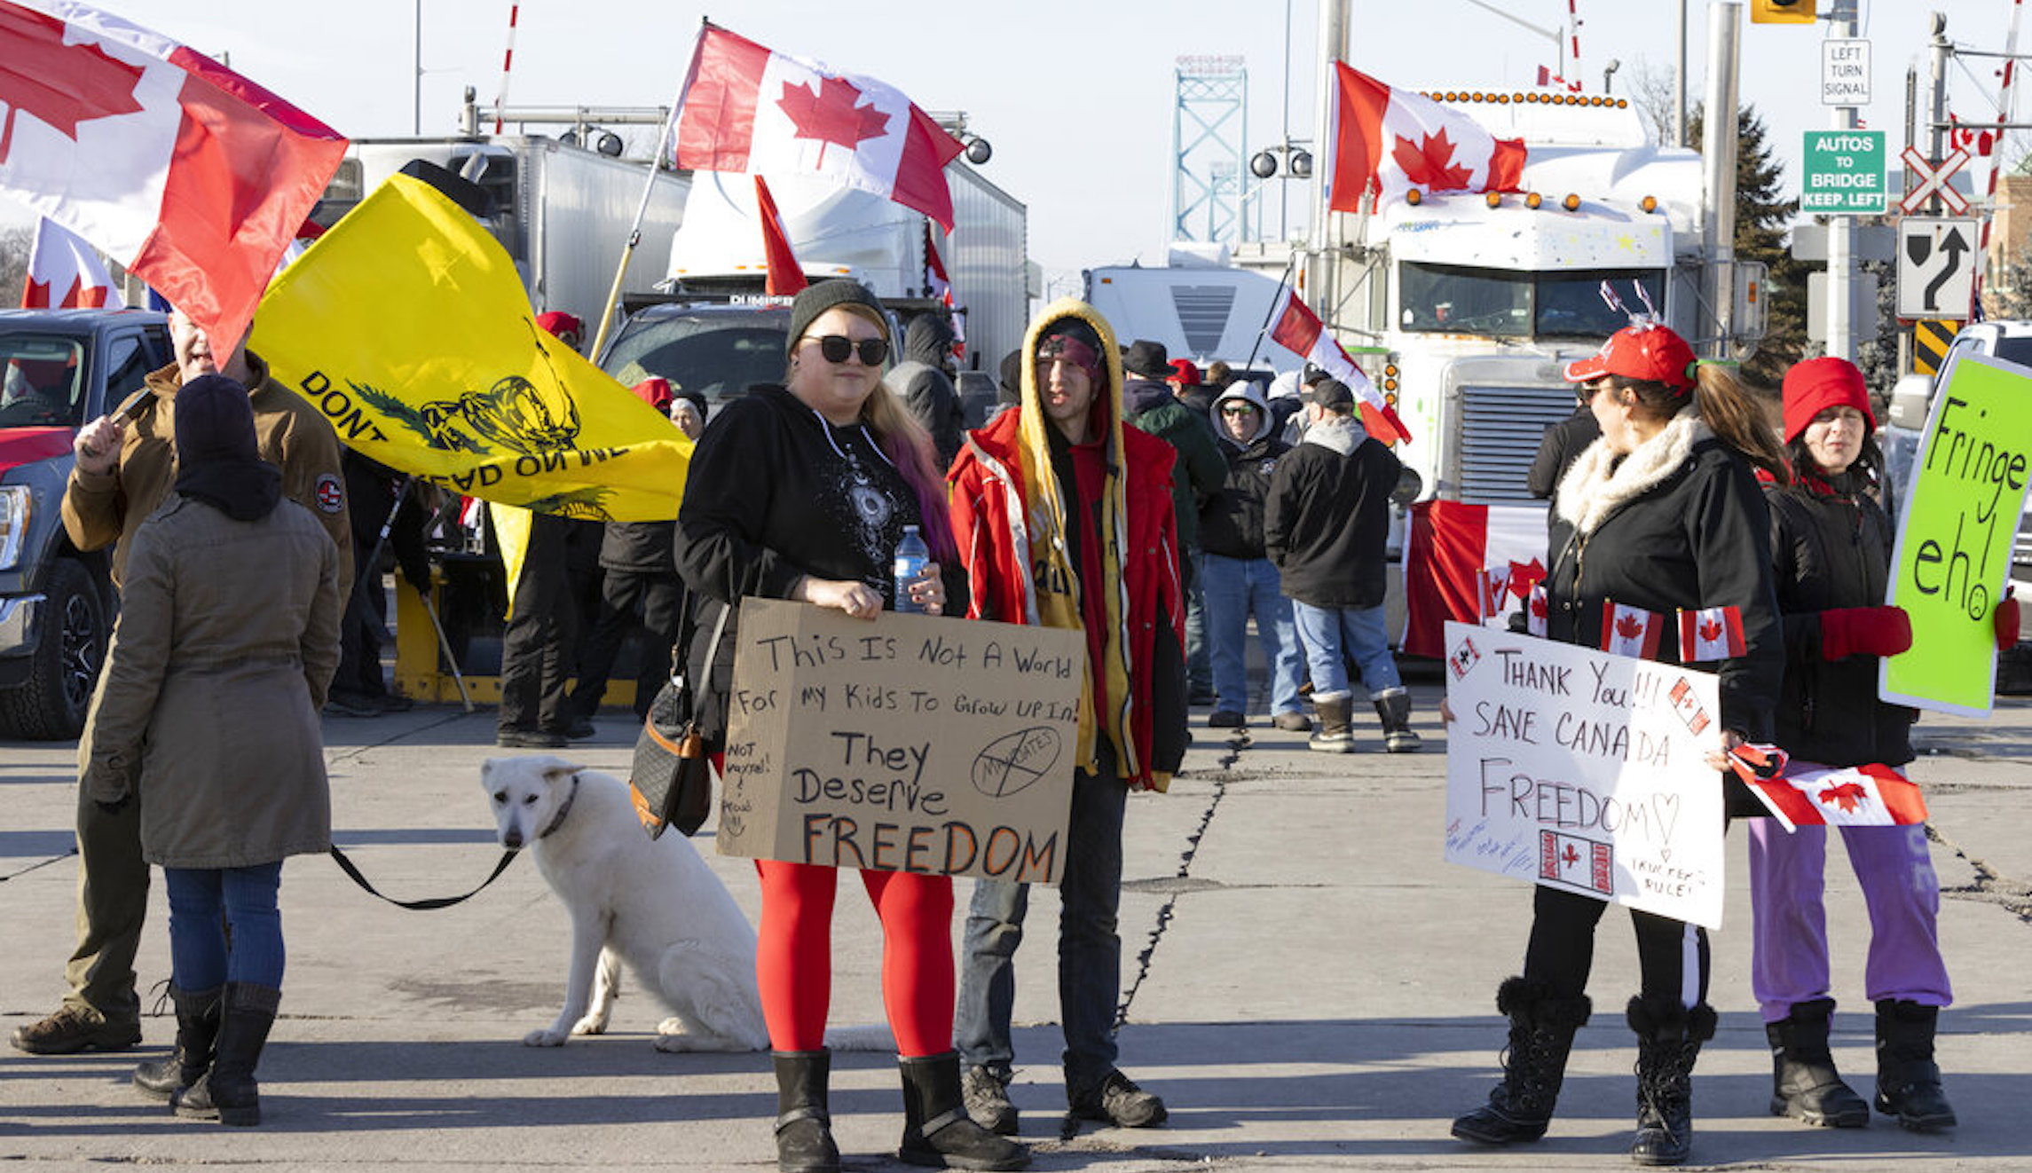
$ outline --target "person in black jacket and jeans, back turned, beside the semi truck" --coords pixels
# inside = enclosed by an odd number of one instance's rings
[[[1319,730],[1309,748],[1353,752],[1347,659],[1384,726],[1384,748],[1418,748],[1410,691],[1398,679],[1384,624],[1390,490],[1404,466],[1355,419],[1355,394],[1337,378],[1305,392],[1305,437],[1278,461],[1264,500],[1264,551],[1292,600],[1313,669]]]

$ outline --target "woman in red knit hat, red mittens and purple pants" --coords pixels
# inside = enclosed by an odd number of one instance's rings
[[[1786,773],[1912,760],[1912,709],[1878,699],[1882,657],[1912,646],[1902,608],[1882,606],[1892,524],[1878,506],[1876,419],[1863,372],[1843,358],[1784,376],[1784,433],[1798,482],[1766,486],[1784,616],[1778,744]],[[1878,1110],[1912,1130],[1951,1128],[1932,1061],[1934,1021],[1955,1000],[1941,960],[1941,880],[1924,825],[1841,827],[1869,907],[1865,990],[1878,1010]],[[1821,907],[1827,827],[1750,819],[1750,980],[1772,1045],[1772,1112],[1861,1128],[1869,1104],[1835,1071],[1835,1012]]]

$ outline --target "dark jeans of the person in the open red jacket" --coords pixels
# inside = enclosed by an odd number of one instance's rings
[[[1081,1094],[1116,1067],[1116,1000],[1122,992],[1122,815],[1128,785],[1101,748],[1101,773],[1073,775],[1073,815],[1059,884],[1059,1018],[1065,1023],[1065,1088]],[[1008,1077],[1016,1061],[1016,945],[1030,884],[975,880],[961,939],[953,1049],[967,1065]]]

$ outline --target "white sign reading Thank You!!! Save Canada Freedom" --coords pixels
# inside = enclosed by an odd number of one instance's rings
[[[1447,624],[1447,862],[1721,927],[1703,671]]]

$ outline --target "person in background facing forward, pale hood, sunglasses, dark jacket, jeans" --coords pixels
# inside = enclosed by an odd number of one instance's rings
[[[1227,480],[1199,510],[1199,545],[1207,592],[1207,653],[1213,659],[1211,728],[1242,728],[1250,712],[1248,628],[1256,616],[1256,636],[1270,663],[1270,724],[1305,732],[1313,722],[1298,709],[1303,651],[1292,626],[1290,600],[1278,585],[1276,565],[1264,551],[1264,500],[1270,474],[1290,445],[1276,437],[1270,405],[1256,384],[1237,378],[1209,409],[1221,433]]]

